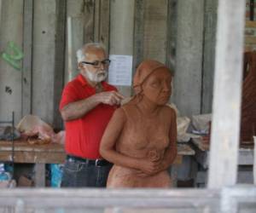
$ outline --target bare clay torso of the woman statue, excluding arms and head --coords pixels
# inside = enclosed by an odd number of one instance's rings
[[[135,158],[162,159],[170,144],[172,109],[159,107],[158,112],[150,117],[143,114],[136,104],[128,103],[122,109],[126,122],[116,143],[117,152]],[[139,177],[137,170],[113,165],[108,187],[171,187],[171,179],[166,170],[154,176]]]

